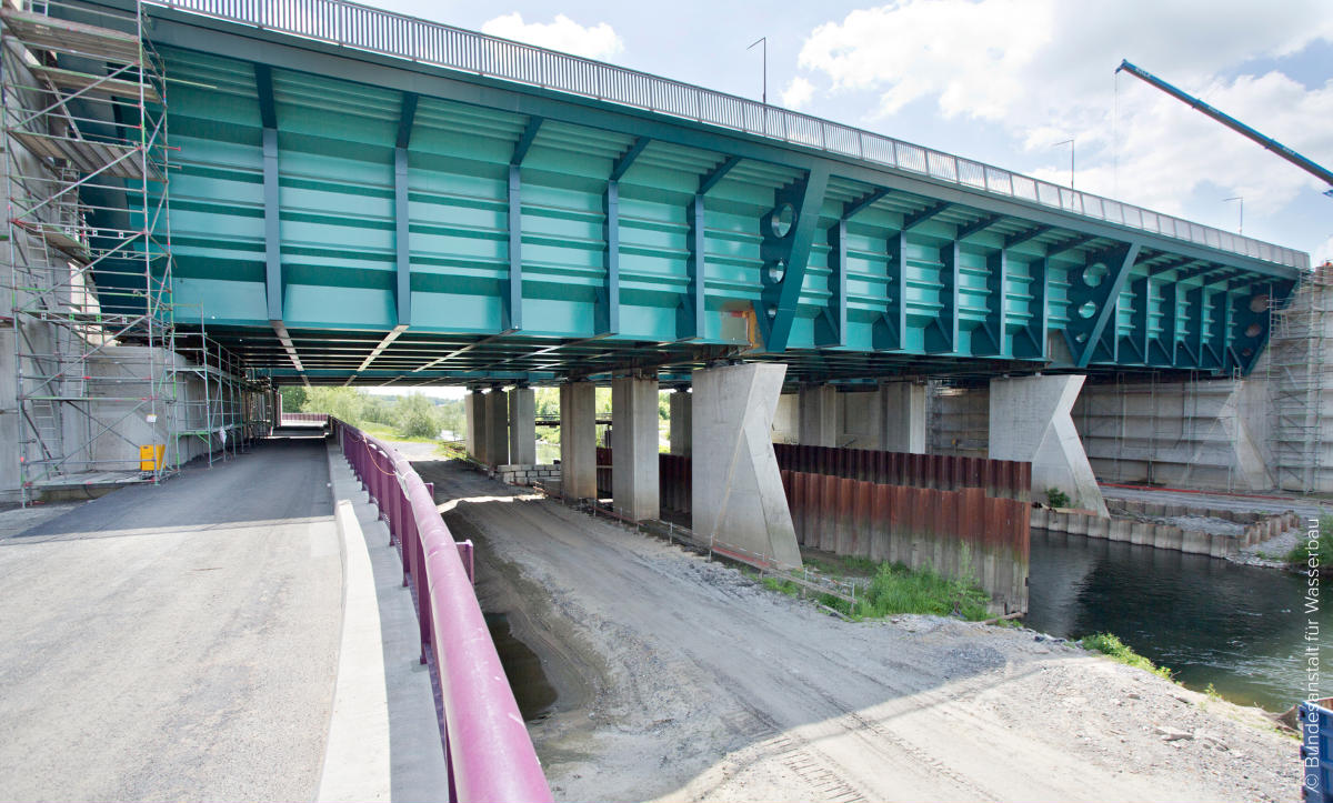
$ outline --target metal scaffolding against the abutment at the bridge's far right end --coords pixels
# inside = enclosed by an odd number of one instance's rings
[[[1273,406],[1272,464],[1278,488],[1313,494],[1324,468],[1324,395],[1333,387],[1325,352],[1333,265],[1301,280],[1285,307],[1269,309],[1268,387]]]

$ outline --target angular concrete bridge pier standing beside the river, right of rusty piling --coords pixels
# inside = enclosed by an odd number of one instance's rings
[[[1109,516],[1097,478],[1069,412],[1085,376],[1024,376],[990,380],[990,459],[1032,463],[1032,494],[1048,488],[1069,504]]]

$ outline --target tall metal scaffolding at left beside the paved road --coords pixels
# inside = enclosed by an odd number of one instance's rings
[[[20,484],[159,482],[179,463],[161,59],[132,11],[8,4],[3,97]]]

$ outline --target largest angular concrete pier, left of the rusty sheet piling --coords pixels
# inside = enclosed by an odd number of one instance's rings
[[[772,363],[694,372],[692,527],[701,538],[798,567],[769,438],[785,375],[786,365]]]

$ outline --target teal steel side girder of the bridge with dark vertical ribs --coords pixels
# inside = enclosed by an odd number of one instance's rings
[[[276,383],[1248,372],[1298,271],[686,119],[155,11],[179,325]],[[192,304],[197,304],[192,312]]]

